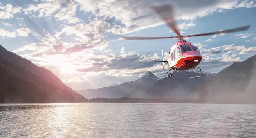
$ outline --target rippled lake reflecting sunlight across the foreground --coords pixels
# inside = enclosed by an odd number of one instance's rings
[[[256,137],[256,105],[0,104],[0,137]]]

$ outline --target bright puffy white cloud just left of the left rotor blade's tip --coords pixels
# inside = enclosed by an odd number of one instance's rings
[[[111,25],[102,20],[95,20],[89,23],[79,23],[76,25],[66,26],[60,32],[55,34],[56,38],[72,40],[72,43],[81,43],[83,46],[73,46],[72,51],[82,51],[88,48],[103,49],[108,46],[108,41],[105,38],[111,34],[120,34],[121,27]],[[72,46],[72,45],[71,45]],[[71,50],[70,49],[70,50]]]

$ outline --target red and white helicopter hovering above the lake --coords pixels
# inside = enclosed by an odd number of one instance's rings
[[[251,25],[244,27],[238,27],[234,29],[227,29],[222,31],[215,31],[210,33],[200,33],[195,35],[181,35],[180,31],[176,25],[176,20],[174,17],[173,6],[171,4],[157,5],[151,7],[157,14],[162,18],[162,20],[168,25],[168,27],[177,34],[177,36],[170,37],[131,37],[131,36],[121,36],[126,40],[145,40],[145,39],[165,39],[165,38],[177,38],[169,50],[169,56],[167,60],[164,60],[164,51],[162,49],[162,58],[163,60],[155,60],[155,62],[163,62],[168,64],[171,69],[167,71],[164,78],[171,77],[174,71],[186,71],[189,78],[198,78],[202,77],[202,70],[200,67],[197,67],[202,60],[202,54],[200,49],[194,45],[191,45],[191,42],[187,42],[184,38],[190,38],[193,36],[207,36],[207,35],[216,35],[222,33],[232,33],[237,31],[245,31],[250,28]],[[190,76],[189,72],[200,70],[200,76]],[[168,74],[169,71],[171,73]],[[167,75],[168,74],[168,75]]]

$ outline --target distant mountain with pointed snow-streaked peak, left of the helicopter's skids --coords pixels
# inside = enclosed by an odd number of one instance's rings
[[[151,71],[148,71],[143,77],[130,82],[125,82],[117,86],[110,86],[98,89],[79,90],[85,98],[121,98],[132,97],[141,98],[144,93],[160,79]]]

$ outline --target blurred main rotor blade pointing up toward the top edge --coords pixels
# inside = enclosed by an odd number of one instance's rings
[[[164,20],[166,24],[168,24],[168,27],[171,28],[174,33],[180,35],[171,4],[157,5],[152,6],[151,8],[155,10],[155,12],[162,18],[162,20]]]

